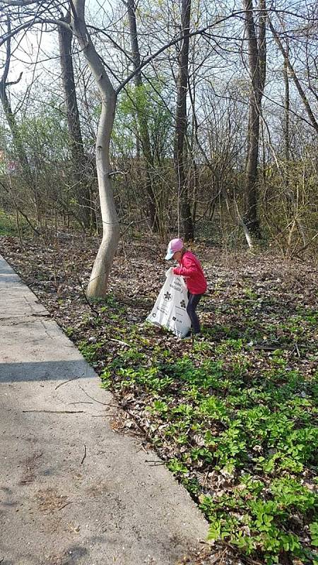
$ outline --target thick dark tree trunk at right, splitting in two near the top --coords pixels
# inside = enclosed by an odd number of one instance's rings
[[[261,98],[266,77],[266,4],[260,0],[259,40],[255,30],[253,1],[243,0],[246,11],[247,40],[249,46],[249,123],[247,130],[247,163],[245,179],[245,223],[252,234],[259,237],[257,217],[257,164],[259,158],[259,119]]]

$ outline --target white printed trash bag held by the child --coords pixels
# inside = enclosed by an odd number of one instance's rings
[[[155,306],[146,321],[164,326],[179,338],[184,338],[191,328],[187,314],[188,294],[183,277],[172,274],[172,268],[165,273],[166,280]]]

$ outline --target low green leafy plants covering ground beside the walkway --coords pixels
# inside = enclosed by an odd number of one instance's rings
[[[281,350],[251,359],[242,339],[211,347],[207,335],[176,359],[162,347],[141,353],[139,337],[102,381],[143,401],[140,422],[151,420],[153,444],[199,501],[209,538],[266,564],[284,552],[314,561],[318,374],[290,369]]]

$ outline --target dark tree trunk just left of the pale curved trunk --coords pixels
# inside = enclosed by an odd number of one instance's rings
[[[66,23],[70,23],[71,15],[68,12]],[[83,148],[81,124],[76,99],[76,87],[74,81],[73,59],[72,59],[72,37],[71,30],[59,25],[59,53],[61,61],[61,80],[65,94],[66,117],[71,138],[71,157],[73,175],[76,179],[76,196],[80,207],[79,216],[85,227],[90,226],[90,190],[88,186],[87,167],[88,163]]]

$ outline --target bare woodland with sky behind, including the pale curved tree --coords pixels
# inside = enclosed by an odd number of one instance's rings
[[[121,234],[317,250],[316,2],[0,8],[0,206],[98,234],[88,296]]]

